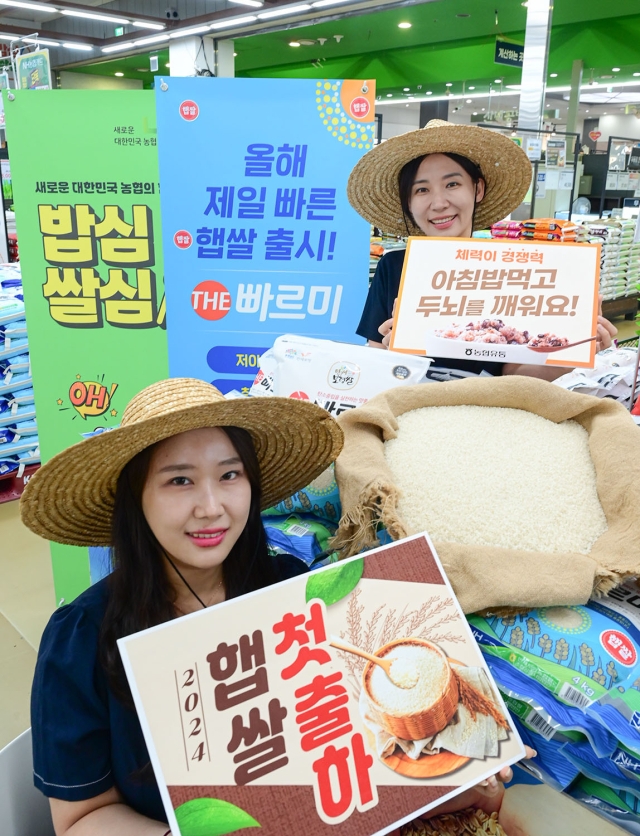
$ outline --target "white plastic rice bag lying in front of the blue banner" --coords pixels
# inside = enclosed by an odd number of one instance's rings
[[[309,400],[338,416],[387,389],[424,381],[430,363],[426,357],[285,334],[262,355],[250,394]]]

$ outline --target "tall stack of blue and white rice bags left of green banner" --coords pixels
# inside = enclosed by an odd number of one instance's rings
[[[0,476],[39,462],[20,264],[1,264]]]

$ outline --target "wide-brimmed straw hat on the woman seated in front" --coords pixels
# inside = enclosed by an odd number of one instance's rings
[[[31,477],[20,501],[22,521],[57,543],[109,545],[116,483],[124,466],[164,438],[220,426],[242,427],[251,434],[263,508],[304,488],[342,449],[342,430],[310,401],[225,400],[202,380],[161,380],[133,398],[118,429],[63,450]]]

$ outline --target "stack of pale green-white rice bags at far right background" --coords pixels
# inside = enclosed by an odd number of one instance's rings
[[[600,292],[605,300],[637,293],[640,244],[633,243],[635,220],[610,218],[584,224],[577,241],[601,244]]]

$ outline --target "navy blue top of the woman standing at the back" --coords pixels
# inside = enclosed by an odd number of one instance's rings
[[[393,303],[395,302],[398,291],[400,290],[400,280],[402,278],[402,265],[404,263],[404,254],[406,250],[391,250],[386,255],[383,255],[378,262],[371,287],[369,288],[369,295],[362,312],[360,324],[356,329],[356,334],[364,337],[366,340],[380,343],[382,342],[382,335],[378,328],[387,319],[391,319],[393,312]],[[472,374],[491,374],[498,376],[502,374],[504,363],[490,363],[482,360],[455,360],[452,358],[434,357],[433,364],[429,368],[428,377],[434,379],[444,379],[442,374],[436,374],[436,369],[458,369]],[[455,377],[455,375],[454,375]]]

